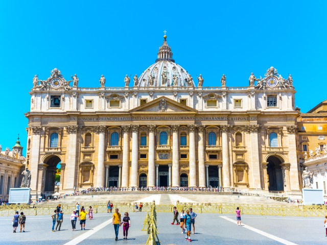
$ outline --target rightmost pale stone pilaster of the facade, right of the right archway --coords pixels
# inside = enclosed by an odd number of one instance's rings
[[[288,149],[289,149],[289,160],[290,160],[290,191],[298,191],[300,189],[298,181],[298,166],[297,166],[297,156],[296,156],[296,126],[287,127],[288,132]]]

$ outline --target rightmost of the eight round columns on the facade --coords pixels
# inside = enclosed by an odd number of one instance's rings
[[[229,147],[228,147],[228,130],[229,125],[221,125],[222,132],[222,151],[223,151],[223,187],[230,187],[230,166],[229,166]]]

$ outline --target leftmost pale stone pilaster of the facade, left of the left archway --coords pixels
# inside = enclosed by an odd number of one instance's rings
[[[31,129],[32,129],[33,136],[32,136],[32,146],[31,146],[32,147],[31,160],[30,160],[30,171],[32,177],[30,187],[32,191],[33,190],[35,191],[35,192],[33,191],[33,194],[35,194],[35,198],[38,198],[37,196],[38,164],[39,164],[39,156],[40,156],[40,134],[42,131],[42,127],[33,126],[31,127]],[[7,178],[5,180],[7,180]],[[6,190],[4,193],[7,194]]]

